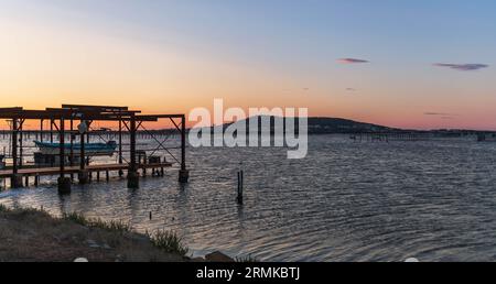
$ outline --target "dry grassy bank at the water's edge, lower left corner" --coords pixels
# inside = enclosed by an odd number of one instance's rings
[[[72,214],[53,218],[36,209],[8,209],[0,205],[0,262],[187,261],[184,254],[153,245],[147,236],[122,222],[104,222]]]

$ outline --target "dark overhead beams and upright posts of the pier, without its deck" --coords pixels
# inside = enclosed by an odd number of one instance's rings
[[[85,162],[85,136],[86,140],[89,141],[89,132],[90,125],[94,121],[115,121],[119,122],[119,168],[122,168],[123,157],[122,157],[122,132],[127,130],[129,132],[129,143],[130,143],[130,161],[128,161],[128,186],[129,187],[138,187],[138,175],[137,170],[139,168],[139,162],[137,163],[137,149],[136,149],[136,140],[137,140],[137,131],[142,129],[142,131],[147,132],[151,138],[153,138],[158,145],[158,149],[162,149],[166,151],[176,162],[181,164],[180,171],[180,182],[187,182],[188,172],[186,171],[186,157],[185,157],[185,149],[186,149],[186,128],[185,128],[185,114],[142,114],[141,110],[133,110],[129,107],[119,107],[119,106],[89,106],[89,105],[62,105],[60,108],[45,108],[43,110],[32,110],[24,109],[22,107],[13,107],[13,108],[0,108],[0,119],[7,119],[11,123],[11,152],[12,152],[12,178],[11,185],[12,187],[22,186],[22,176],[19,176],[20,168],[22,168],[22,139],[19,139],[19,135],[22,136],[23,133],[23,123],[25,120],[40,120],[40,133],[43,133],[43,121],[48,120],[50,123],[50,134],[51,142],[53,142],[53,135],[56,133],[58,135],[58,144],[60,146],[60,174],[58,186],[60,190],[67,187],[67,179],[65,178],[65,174],[67,173],[65,168],[65,156],[67,155],[65,146],[66,134],[78,133],[79,134],[79,144],[78,151],[80,151],[79,156],[80,165],[79,165],[79,183],[84,183],[85,175],[84,172],[86,170]],[[176,159],[172,153],[164,146],[165,141],[159,141],[153,133],[148,131],[143,127],[143,122],[155,122],[160,119],[170,119],[174,124],[175,129],[181,134],[181,157]],[[176,121],[180,120],[180,121]],[[69,128],[66,122],[69,122]],[[84,128],[77,130],[74,129],[74,121],[79,121],[80,124],[84,122]],[[83,131],[82,131],[83,129]],[[41,135],[43,138],[43,135]],[[71,161],[73,161],[73,144],[74,136],[71,135]],[[43,141],[42,141],[43,142]],[[157,150],[153,151],[153,153]],[[19,159],[20,157],[20,159]],[[72,162],[71,162],[72,163]],[[169,163],[168,163],[169,164]],[[74,168],[74,165],[69,165]],[[115,168],[114,165],[109,165],[109,168]],[[144,167],[143,167],[144,168]],[[46,171],[45,171],[46,172]],[[53,170],[50,171],[53,173]],[[40,173],[44,173],[40,171]]]

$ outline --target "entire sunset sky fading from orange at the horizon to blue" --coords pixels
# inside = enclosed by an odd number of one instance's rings
[[[0,107],[496,130],[494,0],[0,0]]]

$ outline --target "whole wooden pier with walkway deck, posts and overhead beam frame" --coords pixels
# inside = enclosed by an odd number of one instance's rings
[[[154,175],[163,176],[163,168],[171,167],[173,164],[165,162],[151,162],[144,161],[141,163],[141,154],[143,150],[137,149],[138,133],[141,135],[148,135],[153,139],[158,146],[152,150],[153,153],[163,150],[165,151],[176,163],[180,164],[181,170],[179,173],[179,181],[181,183],[187,183],[188,171],[186,167],[186,119],[185,114],[141,114],[140,110],[130,110],[128,107],[111,107],[111,106],[85,106],[85,105],[63,105],[62,108],[46,108],[45,110],[25,110],[23,108],[0,108],[0,119],[7,119],[10,122],[10,151],[12,159],[12,166],[9,170],[0,171],[0,178],[10,178],[11,187],[22,187],[23,179],[29,179],[30,176],[35,177],[35,184],[37,184],[40,176],[58,176],[58,192],[61,194],[71,192],[71,184],[74,181],[74,174],[77,174],[77,179],[80,184],[88,183],[93,173],[97,173],[97,179],[99,179],[100,173],[106,174],[106,179],[109,179],[109,172],[118,172],[119,176],[122,176],[127,172],[128,187],[139,187],[139,170],[142,174],[147,174],[147,170],[152,170]],[[181,156],[175,157],[170,149],[164,146],[168,135],[164,140],[157,138],[157,131],[149,130],[143,125],[143,122],[157,122],[160,119],[170,120],[175,129],[168,130],[176,131],[181,135]],[[24,131],[23,125],[26,120],[40,121],[40,130]],[[179,121],[176,121],[179,120]],[[43,129],[43,122],[50,121],[50,130]],[[98,130],[93,130],[91,124],[95,121],[104,122],[117,122],[118,130],[112,132],[112,135],[118,139],[118,163],[117,164],[104,164],[104,165],[90,165],[86,159],[85,144],[89,143],[90,135],[98,135],[101,140],[101,133]],[[75,123],[78,125],[75,129]],[[23,164],[23,140],[24,135],[39,133],[40,140],[47,135],[50,142],[53,143],[57,138],[58,143],[64,146],[58,146],[58,166],[47,167],[26,167]],[[159,133],[163,133],[159,132]],[[6,135],[6,132],[3,132]],[[123,142],[122,138],[127,135],[129,139],[129,161],[123,157]],[[68,141],[67,141],[68,140]],[[77,148],[78,153],[75,153],[74,144],[79,142]],[[69,144],[69,149],[65,145]],[[75,165],[75,156],[80,157],[78,164]],[[66,157],[69,157],[69,163],[66,162]],[[160,172],[155,172],[159,171]],[[159,174],[157,174],[159,173]],[[71,175],[71,177],[67,177]],[[29,181],[28,181],[29,182]]]

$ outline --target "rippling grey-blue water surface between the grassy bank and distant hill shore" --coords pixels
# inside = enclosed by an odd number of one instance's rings
[[[310,136],[305,160],[284,149],[190,149],[191,183],[176,171],[141,179],[7,190],[0,203],[55,215],[173,229],[197,254],[223,250],[268,261],[494,261],[496,143],[354,143]],[[245,170],[245,206],[236,172]],[[153,220],[149,219],[152,211]]]

